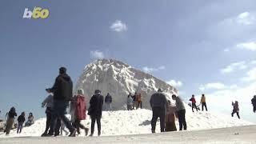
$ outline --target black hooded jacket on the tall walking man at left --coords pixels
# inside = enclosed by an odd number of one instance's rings
[[[68,74],[59,74],[50,92],[54,93],[54,100],[70,101],[72,99],[73,82]]]

